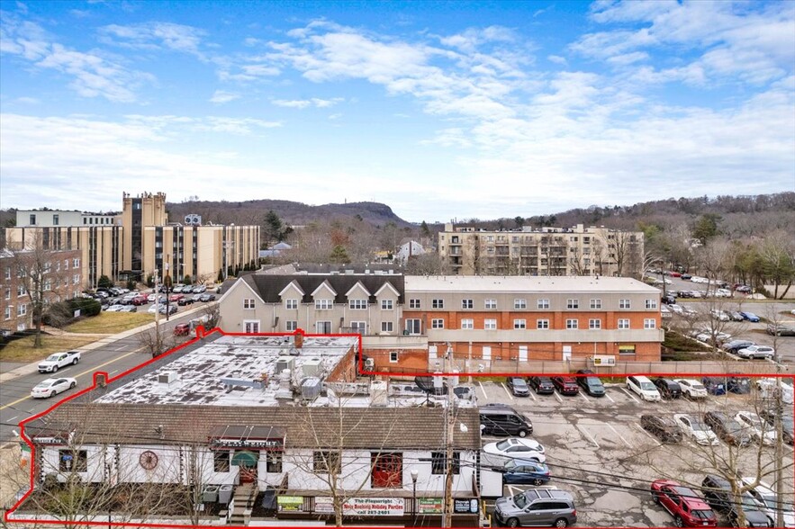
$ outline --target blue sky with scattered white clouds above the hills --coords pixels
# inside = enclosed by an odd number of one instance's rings
[[[795,190],[795,2],[14,2],[0,207]]]

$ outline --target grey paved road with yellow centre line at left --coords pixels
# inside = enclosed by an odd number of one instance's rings
[[[160,319],[162,332],[171,336],[177,323],[185,323],[203,313],[206,304],[195,309],[172,315],[168,321]],[[139,327],[146,329],[148,326]],[[51,373],[41,374],[35,370],[35,363],[23,366],[19,371],[26,372],[11,378],[4,372],[3,382],[0,384],[0,444],[14,441],[14,430],[19,430],[19,423],[26,417],[50,408],[60,399],[68,397],[79,390],[85,389],[93,382],[94,372],[104,371],[111,377],[125,372],[140,363],[149,360],[150,356],[141,346],[140,335],[147,330],[133,329],[126,333],[103,338],[99,346],[84,351],[80,363],[59,369],[57,375],[77,379],[77,388],[59,393],[53,399],[32,399],[31,389],[40,381],[54,376]],[[8,380],[10,379],[10,380]]]

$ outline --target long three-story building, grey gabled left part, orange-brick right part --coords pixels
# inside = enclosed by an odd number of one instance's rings
[[[660,360],[660,291],[625,277],[251,273],[225,287],[230,332],[362,335],[376,371],[433,371],[454,358]]]

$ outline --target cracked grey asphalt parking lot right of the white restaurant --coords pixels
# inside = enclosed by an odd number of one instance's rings
[[[475,382],[478,404],[503,403],[516,408],[533,422],[531,435],[547,449],[547,464],[552,480],[549,486],[570,491],[577,507],[577,525],[587,526],[671,526],[672,517],[655,505],[648,493],[657,479],[678,480],[699,486],[704,475],[718,465],[735,461],[743,475],[755,471],[757,455],[766,472],[772,471],[774,448],[752,444],[732,448],[721,442],[714,447],[700,446],[690,439],[679,444],[662,444],[640,426],[643,414],[672,417],[674,413],[703,416],[709,410],[727,410],[734,416],[740,410],[753,410],[761,402],[751,395],[715,397],[705,401],[688,399],[641,401],[623,384],[608,384],[602,398],[580,392],[565,397],[553,395],[514,397],[500,382]],[[485,436],[484,443],[495,438]],[[793,489],[793,450],[784,444],[785,501],[795,501]],[[763,478],[771,483],[772,475]],[[506,485],[504,495],[531,486]],[[721,525],[727,520],[718,516]]]

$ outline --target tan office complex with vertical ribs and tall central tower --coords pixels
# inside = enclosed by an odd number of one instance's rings
[[[6,229],[9,247],[41,246],[82,252],[85,287],[102,275],[113,281],[142,281],[156,271],[174,282],[185,275],[213,281],[221,272],[257,263],[258,226],[168,222],[165,193],[123,193],[120,214],[79,211],[19,211],[16,227]]]

